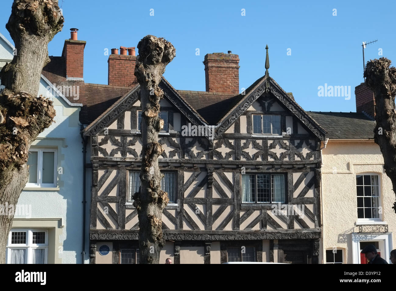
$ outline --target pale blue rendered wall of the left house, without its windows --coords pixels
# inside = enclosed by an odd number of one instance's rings
[[[4,62],[1,62],[2,59],[12,59],[12,48],[10,48],[9,44],[0,35],[0,68],[4,65]],[[24,190],[19,197],[18,204],[31,205],[32,218],[62,218],[65,227],[62,228],[63,234],[59,237],[59,242],[63,245],[63,252],[59,254],[59,257],[62,258],[62,263],[80,264],[82,262],[82,196],[84,179],[82,139],[78,121],[81,105],[74,103],[70,105],[70,102],[63,97],[53,96],[48,93],[49,91],[46,88],[49,85],[46,80],[41,78],[38,95],[43,94],[54,102],[53,105],[56,110],[55,122],[40,133],[39,137],[65,139],[67,147],[59,146],[57,148],[60,151],[58,167],[63,167],[63,174],[58,175],[58,186],[60,190]],[[40,143],[46,143],[46,139],[41,140]],[[87,185],[87,189],[89,188],[87,192],[88,197],[90,186],[90,184]],[[86,219],[89,222],[89,201],[87,202]],[[88,263],[89,228],[86,230],[85,262]]]

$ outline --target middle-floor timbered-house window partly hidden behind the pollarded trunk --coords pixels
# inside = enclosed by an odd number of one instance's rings
[[[161,190],[168,192],[169,202],[176,201],[176,173],[171,171],[162,172],[164,177],[161,180]],[[132,201],[132,195],[139,191],[140,178],[139,171],[129,171],[129,202]]]

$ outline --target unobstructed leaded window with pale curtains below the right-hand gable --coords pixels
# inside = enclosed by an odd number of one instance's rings
[[[242,175],[242,202],[286,203],[285,175]]]

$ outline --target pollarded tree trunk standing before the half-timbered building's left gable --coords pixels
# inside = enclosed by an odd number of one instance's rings
[[[168,193],[161,190],[162,174],[158,157],[164,149],[158,143],[158,133],[164,120],[158,117],[163,91],[158,87],[165,67],[175,57],[176,49],[164,38],[147,35],[137,45],[135,76],[140,84],[142,107],[142,169],[140,191],[133,205],[139,218],[140,263],[158,264],[165,241],[162,237],[162,211],[168,204]]]

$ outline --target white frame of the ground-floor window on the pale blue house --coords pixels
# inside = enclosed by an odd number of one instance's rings
[[[26,232],[26,243],[12,243],[12,232]],[[45,232],[46,243],[33,243],[33,232]],[[32,264],[32,250],[45,249],[44,264],[48,264],[48,231],[36,228],[13,228],[8,234],[8,242],[6,247],[6,263],[11,264],[11,249],[26,249],[25,264]]]

